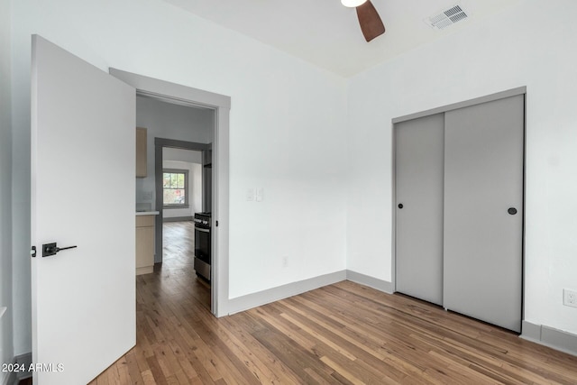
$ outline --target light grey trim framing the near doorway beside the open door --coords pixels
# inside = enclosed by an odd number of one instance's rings
[[[115,78],[136,88],[136,93],[179,105],[204,106],[215,110],[213,142],[213,240],[215,265],[211,285],[211,311],[215,316],[228,315],[228,234],[229,234],[229,122],[231,98],[202,89],[148,78],[121,69],[109,69]],[[160,218],[161,219],[161,218]],[[218,226],[216,226],[218,223]]]

